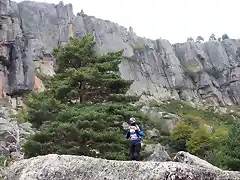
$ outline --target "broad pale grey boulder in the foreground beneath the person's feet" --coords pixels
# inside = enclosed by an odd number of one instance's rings
[[[97,159],[85,156],[49,154],[15,162],[7,169],[6,180],[237,180],[239,172],[222,171],[180,162],[136,162]]]

